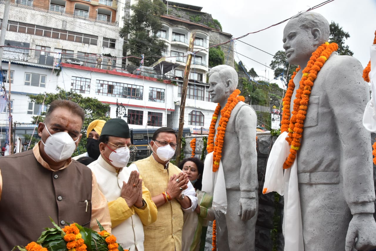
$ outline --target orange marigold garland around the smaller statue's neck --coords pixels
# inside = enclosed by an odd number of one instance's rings
[[[222,158],[222,147],[223,147],[223,140],[224,140],[224,133],[226,132],[227,122],[229,122],[229,118],[232,112],[232,109],[238,104],[239,101],[244,101],[243,96],[239,96],[240,90],[236,89],[232,92],[232,94],[227,99],[227,103],[224,108],[221,110],[221,106],[218,103],[217,107],[215,108],[215,112],[212,116],[212,121],[209,127],[209,136],[208,136],[208,146],[206,150],[208,153],[213,153],[213,172],[218,171],[219,162]],[[217,122],[219,112],[221,111],[221,118],[218,123],[217,128],[217,135],[215,138],[214,143],[214,134],[215,134],[215,123]]]

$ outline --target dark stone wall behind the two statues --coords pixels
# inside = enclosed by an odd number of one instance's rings
[[[185,157],[191,156],[192,149],[190,148],[190,141],[196,138],[196,157],[200,157],[203,148],[203,136],[207,135],[195,135],[186,138],[186,144],[184,147]],[[282,235],[282,219],[283,219],[283,196],[279,196],[277,193],[262,194],[262,188],[264,186],[264,175],[266,161],[269,150],[276,140],[268,134],[257,135],[257,173],[259,181],[259,208],[258,219],[256,222],[256,251],[282,251],[284,248],[284,238]],[[371,134],[372,144],[375,142],[376,134]],[[206,152],[205,152],[206,153]],[[376,190],[376,165],[373,165],[373,177]],[[376,202],[375,202],[376,207]],[[376,219],[376,213],[374,214]],[[212,227],[209,225],[208,232],[206,233],[205,251],[211,251],[212,248]]]

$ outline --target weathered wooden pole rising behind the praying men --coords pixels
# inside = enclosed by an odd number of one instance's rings
[[[186,92],[187,92],[189,74],[191,71],[193,43],[194,43],[195,38],[196,38],[196,32],[192,32],[191,38],[189,41],[187,63],[185,65],[184,80],[183,80],[183,87],[182,87],[182,98],[180,100],[179,131],[177,132],[177,147],[176,147],[176,165],[179,165],[179,162],[180,162],[180,152],[181,152],[181,147],[182,147],[182,136],[183,136],[183,127],[184,127],[185,97],[186,97]]]

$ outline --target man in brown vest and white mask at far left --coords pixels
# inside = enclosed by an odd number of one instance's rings
[[[96,178],[72,160],[85,113],[76,103],[55,100],[38,125],[41,141],[32,150],[0,158],[0,250],[36,241],[49,216],[65,227],[76,222],[111,231],[107,202]]]

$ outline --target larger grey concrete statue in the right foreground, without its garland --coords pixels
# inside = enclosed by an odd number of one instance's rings
[[[285,26],[288,62],[301,67],[291,110],[303,69],[328,39],[329,23],[314,12],[299,13]],[[369,250],[376,246],[375,193],[371,138],[362,126],[369,100],[362,66],[333,52],[313,83],[297,152],[304,250]]]

